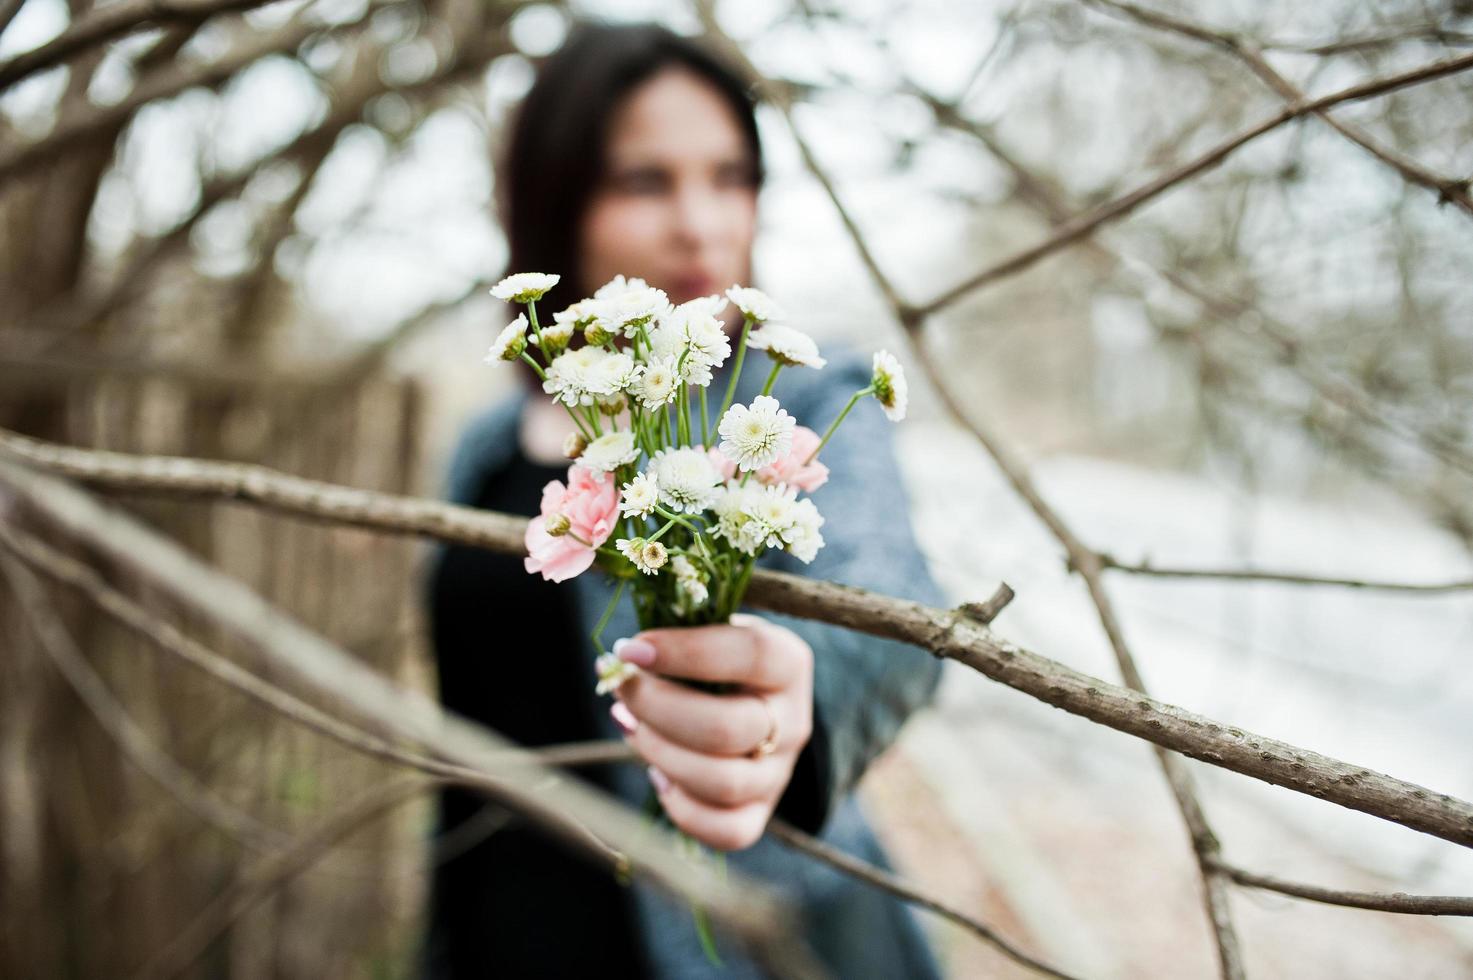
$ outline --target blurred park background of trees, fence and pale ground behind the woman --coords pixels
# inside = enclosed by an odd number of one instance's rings
[[[514,383],[480,363],[507,314],[486,295],[508,271],[491,161],[572,16],[738,44],[918,307],[1284,105],[1227,44],[1080,0],[140,7],[138,29],[27,71],[28,52],[130,7],[0,0],[0,426],[417,495],[439,492],[461,423]],[[1473,50],[1466,0],[1150,9],[1249,41],[1311,94]],[[1282,125],[919,330],[968,416],[1090,547],[1473,578],[1473,72],[1332,115],[1382,152],[1318,118]],[[757,284],[820,343],[903,349],[778,108],[762,136]],[[937,576],[956,601],[1006,581],[1002,634],[1118,679],[1064,550],[922,377],[912,365],[897,439]],[[127,503],[379,671],[433,684],[424,545]],[[1473,797],[1473,589],[1109,584],[1156,697]],[[52,594],[44,615],[119,710],[245,816],[202,819],[131,765],[0,589],[0,976],[131,974],[262,847],[386,769]],[[1464,849],[1192,768],[1234,864],[1473,895]],[[1062,968],[1214,976],[1196,862],[1145,744],[956,669],[862,794],[901,871]],[[427,828],[421,805],[355,834],[193,971],[411,976]],[[1467,920],[1245,890],[1233,911],[1254,977],[1473,974]],[[952,976],[1025,976],[927,927]]]

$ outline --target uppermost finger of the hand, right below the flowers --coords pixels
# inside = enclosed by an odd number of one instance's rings
[[[782,640],[762,619],[741,616],[713,626],[647,629],[616,644],[616,653],[657,673],[776,691],[791,685],[812,656],[806,644]]]

